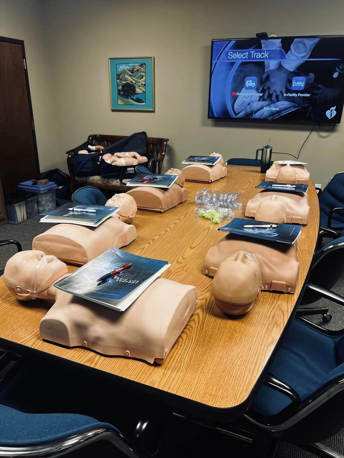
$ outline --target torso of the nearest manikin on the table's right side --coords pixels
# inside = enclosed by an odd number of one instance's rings
[[[203,273],[213,277],[222,261],[239,251],[251,253],[261,272],[262,289],[294,293],[299,278],[297,242],[294,245],[275,244],[264,240],[246,240],[228,234],[211,247],[204,261]]]

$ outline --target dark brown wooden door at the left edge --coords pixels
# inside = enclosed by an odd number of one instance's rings
[[[3,191],[11,192],[21,181],[33,180],[38,175],[23,43],[0,37],[0,179]]]

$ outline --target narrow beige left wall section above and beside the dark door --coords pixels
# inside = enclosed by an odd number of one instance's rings
[[[0,0],[0,36],[24,40],[40,169],[64,165],[57,156],[41,0]]]

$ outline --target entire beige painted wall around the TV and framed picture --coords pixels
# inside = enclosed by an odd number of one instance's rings
[[[17,33],[15,38],[26,40],[40,159],[44,165],[60,168],[65,164],[64,152],[90,133],[129,135],[145,130],[149,136],[166,136],[170,139],[166,167],[180,166],[191,153],[253,157],[269,138],[275,151],[295,154],[311,126],[207,119],[211,38],[250,37],[261,31],[343,33],[342,0],[326,2],[326,9],[323,0],[40,0],[46,33],[41,41],[44,33],[33,37],[28,24],[41,24],[40,16],[36,17],[39,0],[0,0],[3,3],[34,5],[13,32],[22,30],[22,36]],[[33,53],[36,47],[38,57]],[[144,55],[155,56],[155,113],[111,112],[108,57]],[[44,97],[40,97],[40,87]],[[48,138],[55,141],[50,87],[59,139],[55,146]],[[39,132],[38,116],[46,131]],[[343,143],[344,122],[331,133],[316,127],[300,156],[309,163],[316,183],[324,185],[344,169]]]

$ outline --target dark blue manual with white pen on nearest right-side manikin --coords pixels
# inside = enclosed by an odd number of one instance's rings
[[[244,227],[244,226],[251,227]],[[261,227],[262,225],[276,227]],[[253,221],[244,218],[234,218],[230,223],[218,228],[230,234],[243,235],[245,237],[254,237],[261,240],[270,240],[277,243],[286,243],[293,245],[295,240],[300,237],[300,224],[274,224],[265,221]]]

